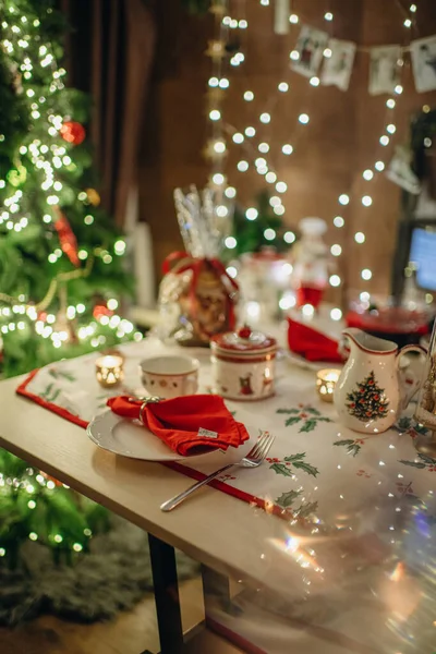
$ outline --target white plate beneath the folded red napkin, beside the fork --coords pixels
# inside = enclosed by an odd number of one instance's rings
[[[211,457],[215,457],[218,463],[226,464],[227,462],[239,461],[253,447],[259,429],[249,426],[246,429],[250,439],[239,448],[229,447],[227,452],[215,450],[195,457],[178,455],[138,422],[125,420],[110,409],[96,415],[88,424],[86,433],[98,447],[132,459],[143,459],[145,461],[184,460],[191,462],[197,459],[203,460],[207,456],[208,461],[211,461]]]

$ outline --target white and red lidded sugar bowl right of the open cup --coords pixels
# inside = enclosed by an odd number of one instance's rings
[[[216,392],[229,400],[262,400],[274,395],[277,341],[246,325],[210,340]]]

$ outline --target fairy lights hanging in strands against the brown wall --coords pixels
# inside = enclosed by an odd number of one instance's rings
[[[268,7],[270,4],[270,0],[259,0],[259,3],[262,7]],[[228,38],[229,32],[242,31],[243,33],[245,33],[247,31],[249,23],[245,17],[237,20],[237,19],[228,15],[227,3],[226,3],[226,5],[225,5],[225,3],[220,3],[220,8],[221,9],[218,12],[219,19],[220,19],[218,38],[221,38],[221,39]],[[416,28],[416,11],[417,11],[416,3],[411,3],[409,7],[409,10],[405,10],[405,8],[403,8],[403,9],[404,9],[404,16],[403,16],[404,28],[408,31],[410,31],[412,27]],[[215,12],[215,13],[217,15],[217,12]],[[324,20],[329,28],[328,31],[330,34],[331,33],[331,24],[335,20],[334,13],[331,11],[326,11],[324,14]],[[293,26],[296,26],[300,23],[300,16],[295,11],[292,11],[292,10],[290,11],[289,22]],[[219,50],[217,43],[218,41],[214,41],[215,48],[216,48],[215,52],[217,52]],[[209,48],[209,50],[210,50],[210,48]],[[360,48],[360,47],[358,47],[358,50],[362,50],[362,51],[366,51],[366,52],[370,51],[368,48]],[[408,46],[401,48],[402,52],[404,52],[407,50],[409,50]],[[222,52],[222,49],[220,51]],[[213,61],[214,61],[214,52],[208,51],[208,55],[211,56]],[[324,57],[330,58],[331,55],[332,55],[331,49],[327,45],[327,47],[324,50]],[[222,59],[223,58],[220,56],[220,59],[219,59],[220,70],[222,69]],[[296,61],[299,59],[299,52],[295,49],[292,49],[289,53],[289,59],[291,61],[292,60]],[[240,51],[239,57],[237,58],[237,56],[233,55],[230,58],[229,63],[231,66],[240,66],[244,61],[245,61],[245,55]],[[403,70],[402,57],[398,61],[398,65],[402,72],[402,70]],[[320,80],[318,76],[314,75],[308,78],[308,84],[312,87],[316,88],[319,86]],[[209,78],[208,85],[211,88],[220,87],[221,89],[227,89],[227,88],[229,88],[230,83],[229,83],[229,80],[226,77],[225,84],[221,85],[221,77],[219,77],[218,74],[214,74]],[[284,96],[286,94],[289,93],[289,90],[290,90],[290,84],[286,80],[278,83],[278,86],[277,86],[278,97]],[[386,102],[386,113],[385,113],[383,132],[377,140],[377,146],[375,148],[376,149],[375,161],[374,161],[373,166],[365,168],[360,173],[362,175],[362,179],[364,180],[364,182],[367,182],[368,184],[371,182],[374,183],[374,181],[377,179],[377,175],[379,173],[384,172],[386,169],[387,161],[386,161],[385,148],[387,148],[389,146],[389,144],[391,144],[392,137],[395,136],[395,134],[397,132],[397,126],[395,123],[395,113],[396,113],[395,110],[397,107],[398,99],[402,93],[403,93],[403,86],[399,82],[395,87],[393,94],[390,97],[388,97],[387,100],[384,100],[384,102]],[[209,107],[209,119],[214,122],[216,130],[217,130],[217,125],[219,125],[220,132],[219,132],[219,141],[217,141],[215,144],[215,157],[213,157],[215,168],[214,168],[214,173],[213,173],[211,180],[210,180],[211,183],[214,185],[225,186],[225,195],[228,198],[232,199],[235,197],[237,189],[234,186],[227,186],[227,178],[223,173],[225,154],[227,152],[227,143],[226,143],[226,134],[227,134],[228,137],[231,138],[231,141],[235,145],[241,146],[241,148],[243,148],[243,152],[245,154],[245,156],[237,162],[238,172],[245,173],[246,171],[249,171],[251,165],[254,164],[254,168],[255,168],[256,172],[259,175],[264,177],[267,184],[274,185],[274,187],[275,187],[276,194],[272,195],[269,201],[274,213],[277,216],[283,216],[286,214],[283,195],[287,193],[288,186],[284,181],[279,179],[279,172],[275,169],[271,161],[268,160],[268,158],[267,158],[268,154],[271,154],[270,145],[267,143],[265,137],[259,143],[256,143],[256,140],[255,140],[256,128],[252,124],[246,125],[242,130],[237,130],[233,125],[226,123],[223,116],[222,116],[222,110],[220,110],[220,108],[217,109],[214,106],[214,99],[215,99],[215,96],[213,95],[211,96],[211,105]],[[256,99],[257,98],[255,96],[255,93],[252,89],[247,88],[246,90],[243,92],[243,100],[245,102],[249,102],[249,104],[255,102]],[[264,98],[259,98],[259,101],[264,102]],[[220,94],[220,102],[222,102],[222,94]],[[258,120],[263,126],[268,125],[271,122],[274,123],[274,117],[271,114],[271,111],[272,111],[271,109],[259,111]],[[306,128],[307,125],[310,125],[310,123],[311,123],[311,117],[306,111],[302,111],[301,113],[299,113],[298,124],[300,126]],[[263,133],[264,132],[265,132],[265,130],[263,130]],[[294,154],[295,149],[294,149],[294,146],[291,143],[291,141],[292,140],[289,140],[289,142],[287,141],[286,143],[281,144],[281,146],[280,146],[281,153],[280,154],[282,156],[289,157]],[[350,190],[344,193],[339,194],[339,196],[338,196],[339,207],[347,207],[350,204],[350,202],[352,199],[354,199],[353,195],[354,194]],[[361,195],[360,202],[363,207],[368,208],[368,207],[373,206],[373,196],[371,194],[371,190],[368,190],[367,192],[364,192]],[[249,207],[245,211],[245,217],[247,220],[256,220],[257,215],[258,215],[258,213],[255,207]],[[336,215],[334,217],[332,225],[338,230],[341,230],[344,227],[346,220],[340,215],[340,211],[338,213],[338,215]],[[272,229],[267,229],[264,233],[264,237],[266,240],[274,241],[276,239],[276,232]],[[291,230],[289,230],[283,234],[283,239],[287,243],[291,244],[295,240],[295,234]],[[366,234],[364,231],[360,230],[354,233],[353,239],[358,245],[363,245],[366,241]],[[234,249],[237,246],[235,239],[233,237],[229,237],[226,240],[226,246],[230,250]],[[339,242],[335,242],[330,246],[330,253],[331,253],[332,257],[335,257],[337,259],[341,256],[342,251],[343,251],[343,247]],[[232,268],[232,272],[233,271],[235,272],[234,268]],[[370,268],[365,267],[360,271],[360,277],[362,279],[362,282],[367,282],[372,279],[373,271]],[[336,272],[330,275],[329,284],[334,288],[340,287],[342,284],[342,279],[341,279],[340,275],[338,275]],[[367,293],[366,291],[361,293],[362,301],[368,301],[368,299],[370,299],[370,293]],[[337,320],[340,319],[342,317],[341,310],[339,307],[335,307],[331,311],[331,317]]]

